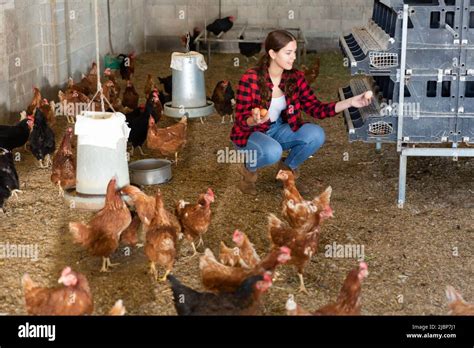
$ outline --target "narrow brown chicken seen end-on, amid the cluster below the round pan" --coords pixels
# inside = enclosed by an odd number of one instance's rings
[[[170,218],[171,214],[164,208],[159,190],[155,197],[155,216],[146,233],[145,255],[150,261],[150,273],[155,279],[158,279],[156,263],[165,268],[165,275],[161,278],[161,281],[165,281],[173,270],[180,229]]]

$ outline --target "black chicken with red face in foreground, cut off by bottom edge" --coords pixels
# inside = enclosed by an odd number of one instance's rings
[[[255,315],[260,294],[271,286],[268,274],[245,279],[235,292],[198,292],[168,275],[178,315]]]

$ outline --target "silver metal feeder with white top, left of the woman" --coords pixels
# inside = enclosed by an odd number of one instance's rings
[[[173,118],[207,117],[215,113],[214,103],[207,100],[204,71],[207,64],[198,52],[171,55],[173,99],[164,105],[163,113]]]

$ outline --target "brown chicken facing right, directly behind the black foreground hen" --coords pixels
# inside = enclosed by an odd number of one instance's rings
[[[235,291],[248,277],[269,273],[273,274],[275,268],[291,259],[290,249],[281,247],[271,251],[258,265],[252,269],[230,267],[219,263],[210,249],[206,249],[199,261],[202,284],[207,290],[217,292]]]

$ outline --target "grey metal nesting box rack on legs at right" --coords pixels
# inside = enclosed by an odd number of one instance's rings
[[[408,156],[474,157],[474,0],[375,0],[368,24],[339,43],[351,74],[364,75],[341,100],[375,96],[344,112],[349,140],[397,144],[400,208]]]

